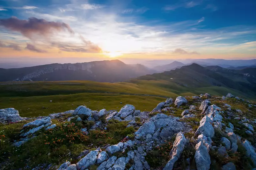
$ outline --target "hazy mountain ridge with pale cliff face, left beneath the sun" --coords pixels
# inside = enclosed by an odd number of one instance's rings
[[[126,65],[120,60],[105,60],[0,69],[0,81],[92,80],[113,83],[153,72],[143,65]]]

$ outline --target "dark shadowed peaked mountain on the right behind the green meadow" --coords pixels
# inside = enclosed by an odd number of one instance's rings
[[[253,72],[253,70],[250,70]],[[152,75],[141,76],[139,80],[165,80],[170,84],[177,84],[189,88],[204,88],[204,87],[225,87],[238,90],[246,94],[256,94],[256,79],[250,74],[246,76],[246,72],[235,73],[228,69],[219,66],[202,67],[198,64],[183,66],[180,69],[165,71]],[[255,71],[256,72],[256,71]],[[234,75],[238,75],[238,79]],[[242,79],[245,78],[245,79]],[[246,81],[245,81],[246,80]]]

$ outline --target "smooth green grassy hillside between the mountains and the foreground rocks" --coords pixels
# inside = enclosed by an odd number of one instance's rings
[[[0,108],[14,107],[19,110],[22,117],[63,112],[75,109],[79,105],[86,105],[92,110],[119,110],[123,105],[131,104],[141,111],[151,111],[166,98],[176,98],[179,95],[193,96],[206,92],[216,96],[231,92],[245,99],[253,99],[248,94],[226,87],[191,88],[167,80],[130,80],[129,83],[3,82],[0,83]]]

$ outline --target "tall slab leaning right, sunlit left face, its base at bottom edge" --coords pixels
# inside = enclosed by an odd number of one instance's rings
[[[176,136],[172,150],[170,152],[171,159],[165,165],[163,170],[171,170],[173,168],[174,163],[179,159],[181,153],[183,152],[186,143],[187,139],[182,132],[179,132]]]

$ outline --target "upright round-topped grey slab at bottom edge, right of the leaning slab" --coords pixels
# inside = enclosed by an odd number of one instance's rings
[[[207,148],[203,142],[199,142],[195,146],[195,162],[197,170],[208,170],[210,168],[211,159]]]

